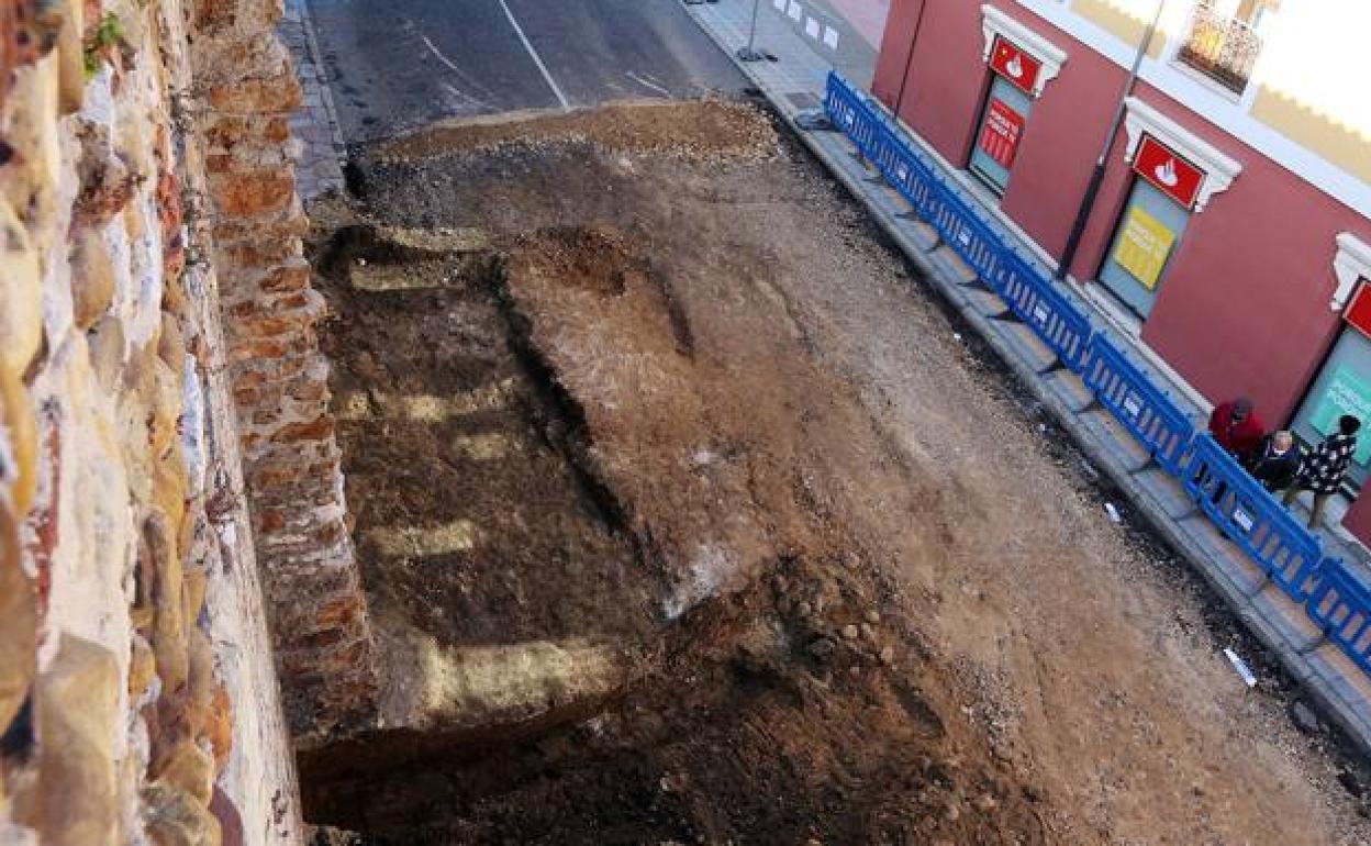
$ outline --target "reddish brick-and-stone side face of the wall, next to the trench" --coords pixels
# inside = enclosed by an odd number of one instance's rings
[[[287,716],[310,743],[374,720],[377,673],[314,332],[325,304],[302,255],[287,145],[300,85],[280,16],[281,0],[200,0],[193,59],[252,528]]]

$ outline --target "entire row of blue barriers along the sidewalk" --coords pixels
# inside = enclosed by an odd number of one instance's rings
[[[1176,476],[1196,505],[1297,602],[1324,635],[1371,675],[1371,587],[1253,480],[1086,314],[995,233],[899,126],[836,73],[824,96],[828,118],[882,176],[986,281],[1024,324],[1078,373],[1095,399]]]

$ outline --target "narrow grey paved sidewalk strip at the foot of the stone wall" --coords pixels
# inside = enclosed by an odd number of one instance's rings
[[[304,0],[285,0],[285,14],[277,33],[304,90],[304,101],[291,115],[291,134],[303,145],[295,163],[296,189],[304,202],[329,192],[343,192],[343,136],[333,114],[333,99],[325,82],[319,48],[314,40],[310,11]]]

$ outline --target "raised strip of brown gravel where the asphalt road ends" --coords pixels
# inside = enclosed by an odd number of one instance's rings
[[[428,126],[381,144],[376,154],[387,162],[414,162],[568,141],[688,160],[757,160],[776,154],[771,121],[751,106],[727,100],[629,100],[573,112],[503,112]]]

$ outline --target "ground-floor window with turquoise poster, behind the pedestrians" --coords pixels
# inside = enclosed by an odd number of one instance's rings
[[[1316,444],[1337,431],[1344,414],[1371,426],[1371,337],[1350,324],[1333,344],[1333,352],[1300,404],[1291,431],[1307,444]],[[1357,488],[1366,484],[1371,470],[1367,431],[1357,437],[1357,452],[1348,468],[1348,479]]]

